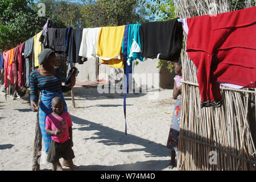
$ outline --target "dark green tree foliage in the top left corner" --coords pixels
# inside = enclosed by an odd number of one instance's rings
[[[41,17],[37,10],[31,0],[0,1],[0,52],[14,48],[40,32],[47,17],[61,26],[53,15],[46,13],[46,17]]]

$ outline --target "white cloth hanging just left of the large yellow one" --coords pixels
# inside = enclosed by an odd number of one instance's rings
[[[93,59],[97,54],[97,43],[100,28],[83,28],[79,56]]]

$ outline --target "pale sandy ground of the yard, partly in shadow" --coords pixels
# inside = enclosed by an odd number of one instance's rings
[[[166,148],[175,101],[172,90],[129,94],[127,135],[122,94],[99,94],[97,88],[75,86],[75,104],[66,96],[73,120],[77,170],[170,170]],[[31,170],[36,114],[26,100],[0,95],[0,170]],[[45,154],[42,151],[42,154]],[[41,157],[41,169],[51,169]],[[173,170],[175,170],[174,168]]]

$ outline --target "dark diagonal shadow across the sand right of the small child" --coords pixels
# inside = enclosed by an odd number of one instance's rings
[[[94,133],[94,136],[97,137],[90,137],[84,138],[84,140],[99,140],[99,143],[105,144],[106,146],[111,145],[119,145],[122,146],[124,144],[138,144],[142,146],[142,148],[134,148],[129,150],[120,150],[120,152],[134,152],[134,151],[144,151],[147,154],[146,157],[169,157],[170,150],[166,148],[166,146],[155,143],[153,141],[143,139],[137,137],[135,135],[125,135],[124,132],[111,129],[110,127],[103,126],[102,124],[94,123],[87,121],[85,119],[81,119],[71,115],[71,119],[73,123],[81,125],[82,127],[73,128],[73,130],[79,131],[91,131],[97,130]],[[166,136],[167,137],[167,136]],[[167,139],[167,138],[166,138]],[[118,164],[115,166],[100,166],[100,165],[92,165],[92,166],[79,166],[78,171],[87,170],[87,171],[101,171],[101,170],[162,170],[168,166],[170,160],[149,160],[145,162],[136,162],[133,164]],[[68,169],[67,169],[68,170]]]

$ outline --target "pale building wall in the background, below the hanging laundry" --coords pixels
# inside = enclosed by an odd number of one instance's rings
[[[157,65],[158,59],[147,59],[143,62],[138,60],[138,65],[135,65],[133,73],[134,87],[172,89],[175,74],[170,73],[166,64],[161,68],[157,68]],[[84,64],[76,64],[75,66],[79,70],[77,82],[104,81],[107,84],[117,84],[124,76],[123,69],[113,68],[105,64],[98,65],[97,59],[89,59]]]

